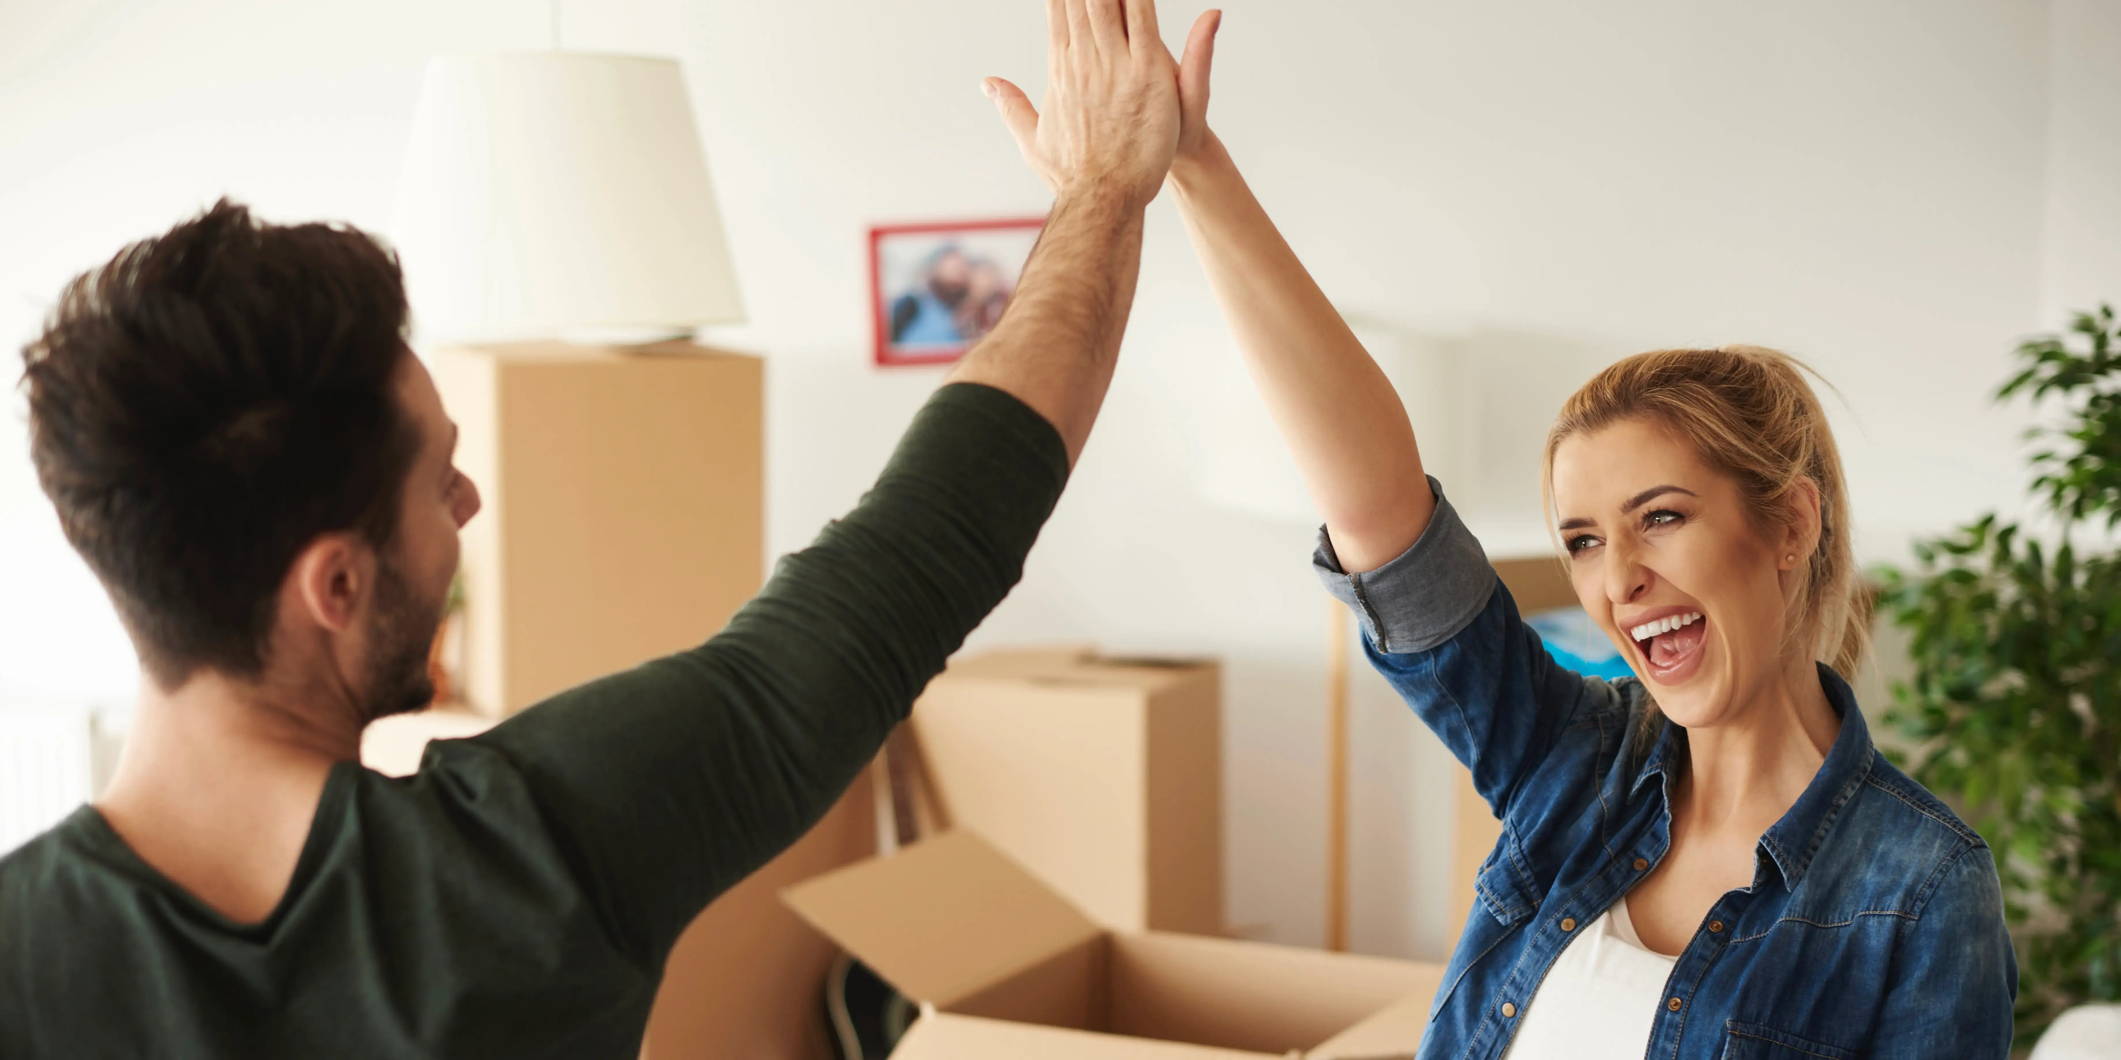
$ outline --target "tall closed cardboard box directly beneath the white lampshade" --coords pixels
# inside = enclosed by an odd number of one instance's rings
[[[764,369],[694,343],[426,352],[486,509],[464,700],[509,714],[694,647],[766,581]]]

